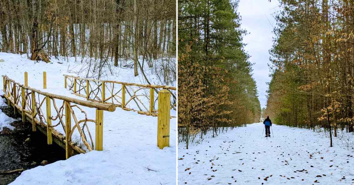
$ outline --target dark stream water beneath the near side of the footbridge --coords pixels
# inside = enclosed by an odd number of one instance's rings
[[[47,137],[40,131],[32,132],[29,122],[22,123],[22,119],[15,116],[13,108],[0,107],[7,116],[16,118],[11,123],[15,127],[13,131],[4,128],[0,132],[0,172],[23,168],[24,170],[41,165],[43,160],[53,163],[65,160],[65,151],[53,142],[47,145]],[[37,129],[38,130],[38,129]],[[27,138],[31,141],[25,142]],[[32,163],[37,164],[33,165]],[[0,185],[9,184],[21,173],[0,174]]]

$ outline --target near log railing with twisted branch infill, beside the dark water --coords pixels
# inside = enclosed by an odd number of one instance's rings
[[[52,144],[54,136],[59,141],[65,143],[65,154],[69,158],[73,155],[73,150],[78,153],[85,153],[77,143],[72,141],[72,135],[75,129],[80,134],[80,143],[84,143],[88,151],[103,150],[103,111],[113,112],[115,106],[98,102],[80,100],[42,92],[28,87],[27,72],[25,72],[25,85],[15,82],[6,75],[2,75],[4,84],[4,97],[8,105],[12,105],[15,111],[22,115],[22,120],[28,120],[33,125],[33,131],[37,128],[46,130],[47,143]],[[57,103],[60,102],[59,106]],[[96,109],[96,117],[87,118],[87,113],[80,106]],[[54,108],[56,114],[52,115],[51,109]],[[45,109],[45,112],[43,111]],[[79,114],[84,119],[78,120]],[[72,126],[73,118],[73,126]],[[57,123],[52,124],[52,121]],[[88,122],[96,124],[95,144],[93,143]],[[55,128],[63,129],[65,136]]]

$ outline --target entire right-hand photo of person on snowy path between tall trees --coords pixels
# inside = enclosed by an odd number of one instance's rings
[[[353,30],[353,0],[179,0],[178,184],[354,184]]]

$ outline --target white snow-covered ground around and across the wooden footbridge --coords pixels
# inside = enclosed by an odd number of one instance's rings
[[[25,55],[0,53],[0,75],[24,84],[24,71],[28,72],[28,86],[44,92],[84,99],[64,88],[63,74],[85,69],[80,62],[63,62],[52,59],[52,63],[34,63]],[[79,60],[78,60],[79,61]],[[63,64],[57,63],[61,62]],[[43,89],[42,71],[47,72],[47,89]],[[86,71],[87,72],[87,71]],[[80,76],[84,77],[85,70]],[[104,76],[117,81],[144,83],[142,75],[133,77],[133,70],[113,68],[113,75]],[[156,76],[148,75],[152,83]],[[103,78],[103,79],[104,79]],[[171,85],[171,84],[170,84]],[[2,80],[0,91],[2,92]],[[62,102],[56,100],[57,106]],[[43,107],[42,107],[43,108]],[[81,106],[82,108],[82,106]],[[95,119],[95,109],[83,108],[89,119]],[[43,109],[45,112],[45,109]],[[77,111],[77,110],[76,110]],[[76,113],[76,112],[75,112]],[[56,115],[52,108],[52,115]],[[176,116],[176,111],[171,110]],[[84,118],[77,115],[78,119]],[[73,122],[73,121],[72,121]],[[52,122],[52,125],[57,122]],[[137,114],[117,108],[103,113],[103,151],[91,151],[24,171],[12,184],[175,184],[176,183],[176,118],[170,120],[170,147],[160,150],[156,146],[157,117]],[[95,124],[89,124],[95,143]],[[55,127],[63,133],[62,127]],[[73,140],[79,141],[78,133]],[[89,142],[90,143],[90,142]],[[81,146],[82,142],[81,142]],[[63,152],[64,155],[64,152]]]

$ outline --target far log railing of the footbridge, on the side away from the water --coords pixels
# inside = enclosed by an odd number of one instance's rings
[[[170,109],[176,110],[176,87],[63,76],[64,87],[69,88],[77,96],[150,116],[158,116],[155,105],[159,99],[159,92],[165,89],[172,95]]]

